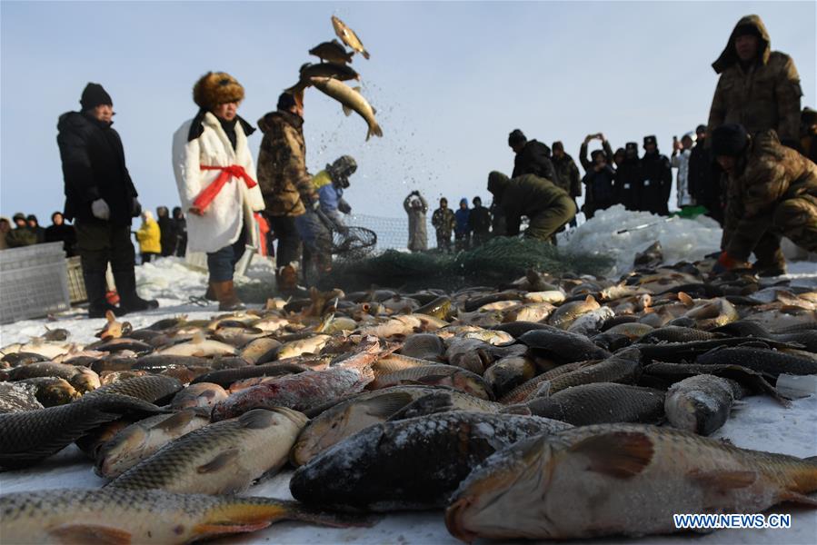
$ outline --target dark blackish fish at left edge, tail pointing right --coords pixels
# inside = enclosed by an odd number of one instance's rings
[[[86,395],[66,405],[0,414],[0,467],[22,468],[61,451],[86,431],[123,414],[162,412],[153,403],[118,395]]]

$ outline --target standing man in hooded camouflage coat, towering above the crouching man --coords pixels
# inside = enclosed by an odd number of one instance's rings
[[[712,69],[721,77],[712,97],[710,130],[722,124],[742,124],[749,134],[773,129],[782,144],[798,146],[800,75],[792,57],[772,51],[758,15],[738,21]]]

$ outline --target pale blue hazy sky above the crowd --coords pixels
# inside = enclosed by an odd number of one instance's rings
[[[295,83],[337,15],[360,36],[363,93],[384,137],[315,89],[304,134],[312,173],[357,159],[355,213],[401,217],[404,196],[483,196],[513,169],[507,136],[561,140],[578,163],[586,134],[613,149],[656,134],[664,154],[705,123],[711,64],[742,15],[761,15],[791,54],[802,105],[815,101],[817,3],[806,2],[0,2],[0,213],[61,210],[60,114],[87,82],[114,100],[115,129],[145,207],[178,204],[174,131],[196,112],[195,81],[224,71],[244,85],[251,124]],[[250,137],[257,156],[262,134]],[[596,144],[592,144],[591,149]]]

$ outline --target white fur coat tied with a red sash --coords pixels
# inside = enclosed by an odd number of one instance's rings
[[[257,180],[253,156],[240,123],[235,124],[235,150],[214,114],[208,112],[204,115],[204,133],[187,142],[192,123],[192,119],[184,122],[173,135],[173,170],[185,213],[198,194],[221,173],[217,170],[203,171],[200,165],[238,164],[253,180]],[[264,210],[261,189],[257,185],[248,188],[242,179],[231,179],[215,196],[203,216],[186,214],[188,252],[212,253],[235,243],[241,234],[242,214],[249,233],[247,243],[257,246],[253,212],[260,210]]]

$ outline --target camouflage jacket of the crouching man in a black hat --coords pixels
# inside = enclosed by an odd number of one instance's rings
[[[747,261],[772,227],[778,203],[809,195],[817,199],[817,164],[782,145],[774,131],[757,134],[740,162],[728,182],[726,215],[732,232],[724,232],[724,249]]]

